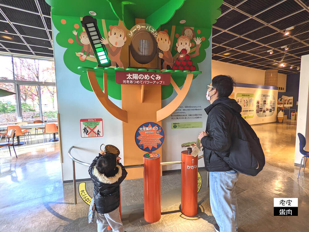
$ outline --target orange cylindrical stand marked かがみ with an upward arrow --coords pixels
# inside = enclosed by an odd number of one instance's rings
[[[181,213],[197,215],[197,157],[181,152]]]

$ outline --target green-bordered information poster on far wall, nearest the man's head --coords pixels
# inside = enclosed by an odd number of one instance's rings
[[[243,118],[253,118],[254,108],[254,94],[253,93],[237,93],[236,101],[241,106],[241,116]]]

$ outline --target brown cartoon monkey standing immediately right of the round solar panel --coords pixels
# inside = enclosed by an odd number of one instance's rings
[[[163,51],[163,53],[159,52],[159,58],[164,60],[163,69],[161,70],[164,71],[167,69],[167,65],[170,67],[173,66],[173,56],[170,52],[171,41],[170,37],[165,31],[158,32],[157,43],[159,49]]]

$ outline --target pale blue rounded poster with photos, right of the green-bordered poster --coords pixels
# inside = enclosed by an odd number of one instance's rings
[[[260,94],[256,99],[256,115],[258,117],[272,116],[276,107],[275,97],[271,94]]]

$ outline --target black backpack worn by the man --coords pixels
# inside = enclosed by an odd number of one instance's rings
[[[232,138],[227,163],[237,172],[256,176],[265,165],[265,155],[260,139],[248,122],[241,117],[241,114],[234,110],[232,114],[235,115],[238,131],[237,136]]]

